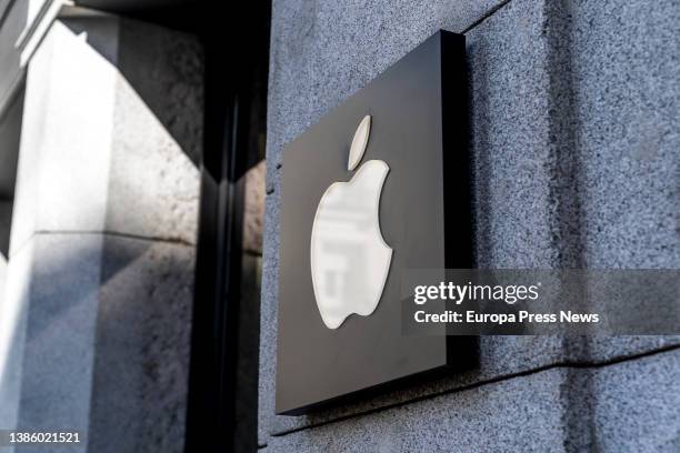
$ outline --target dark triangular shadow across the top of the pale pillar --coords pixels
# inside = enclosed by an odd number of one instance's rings
[[[203,62],[196,58],[202,56],[198,40],[188,34],[178,39],[182,33],[116,16],[67,18],[63,23],[116,68],[148,112],[198,167],[202,122],[197,121],[197,114],[203,111]],[[126,105],[117,107],[122,110]]]

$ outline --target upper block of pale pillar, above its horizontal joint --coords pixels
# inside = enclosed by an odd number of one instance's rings
[[[109,16],[54,22],[28,73],[12,249],[46,231],[194,243],[201,83],[194,38]]]

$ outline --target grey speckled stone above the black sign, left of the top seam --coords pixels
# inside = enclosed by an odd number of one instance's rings
[[[286,143],[439,29],[461,32],[503,0],[272,4],[268,180]]]

